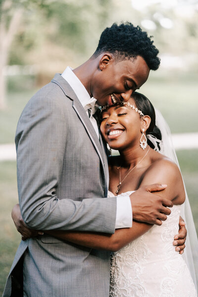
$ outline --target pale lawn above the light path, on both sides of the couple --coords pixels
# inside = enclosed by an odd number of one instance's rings
[[[7,107],[0,110],[0,144],[13,143],[19,116],[37,89],[24,89],[18,79],[8,92]],[[23,79],[21,79],[23,81]],[[198,75],[151,71],[140,92],[150,99],[168,122],[172,133],[198,132]],[[15,84],[14,84],[15,83]],[[10,84],[9,84],[10,85]],[[16,88],[17,85],[17,88]],[[28,81],[27,81],[28,85]],[[19,88],[21,86],[21,88]]]

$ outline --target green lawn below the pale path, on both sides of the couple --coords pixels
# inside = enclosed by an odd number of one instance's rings
[[[198,150],[178,151],[177,156],[198,232]],[[0,294],[2,294],[6,277],[20,242],[20,235],[10,216],[12,206],[18,202],[15,161],[0,162],[0,189]]]

